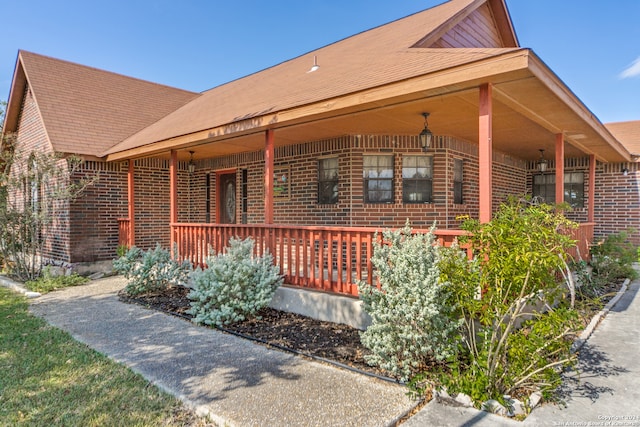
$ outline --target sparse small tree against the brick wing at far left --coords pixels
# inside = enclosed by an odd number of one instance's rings
[[[0,253],[9,274],[34,280],[42,272],[56,231],[68,227],[69,204],[94,179],[73,180],[82,159],[55,153],[26,155],[3,141],[0,164]]]

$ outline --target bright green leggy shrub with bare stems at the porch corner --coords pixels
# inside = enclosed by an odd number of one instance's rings
[[[558,296],[556,275],[574,244],[561,231],[572,226],[551,206],[516,199],[489,223],[465,221],[476,257],[441,264],[465,325],[466,351],[442,377],[450,392],[480,403],[536,387],[548,393],[560,381],[557,368],[575,360],[575,313],[535,307]]]

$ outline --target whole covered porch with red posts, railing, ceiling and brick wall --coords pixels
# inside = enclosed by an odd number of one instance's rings
[[[429,143],[418,137],[426,130]],[[146,220],[136,203],[136,161],[158,158],[168,162],[169,185],[168,218],[157,234],[166,230],[180,257],[203,266],[209,248],[220,251],[232,236],[253,237],[256,252],[273,254],[287,284],[346,295],[357,295],[358,281],[374,280],[377,231],[399,228],[406,218],[425,230],[435,220],[438,240],[451,245],[462,234],[459,215],[489,221],[506,196],[532,194],[537,174],[553,177],[555,196],[547,202],[565,201],[567,166],[584,178],[583,204],[568,215],[580,223],[573,255],[585,257],[596,225],[597,162],[628,157],[526,49],[171,138],[148,137],[154,142],[122,146],[108,157],[129,162],[121,244],[136,244]],[[367,200],[366,156],[391,158],[390,201]],[[431,159],[426,202],[404,197],[403,159],[411,156]],[[317,162],[325,158],[337,159],[340,177],[331,206],[314,193]],[[206,191],[192,194],[194,181],[206,182],[199,187]],[[472,256],[472,248],[463,250]]]

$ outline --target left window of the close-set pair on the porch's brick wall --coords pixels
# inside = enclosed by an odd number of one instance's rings
[[[393,202],[393,156],[364,156],[364,200],[367,203]]]

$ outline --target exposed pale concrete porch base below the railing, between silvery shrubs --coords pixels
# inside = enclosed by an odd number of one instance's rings
[[[280,286],[269,306],[362,330],[371,324],[371,318],[362,308],[362,301],[326,292]]]

